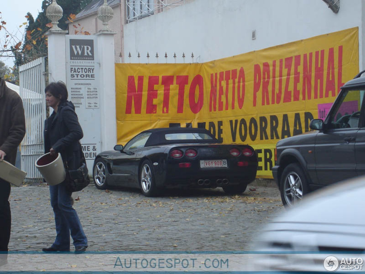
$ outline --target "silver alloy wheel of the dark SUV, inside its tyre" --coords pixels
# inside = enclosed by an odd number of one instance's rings
[[[284,182],[284,197],[288,205],[293,205],[303,198],[303,186],[300,176],[291,171]]]

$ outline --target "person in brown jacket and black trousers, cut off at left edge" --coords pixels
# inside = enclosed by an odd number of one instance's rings
[[[0,78],[0,161],[15,165],[16,151],[25,135],[25,117],[20,96]],[[0,178],[0,265],[7,262],[11,213],[10,183]]]

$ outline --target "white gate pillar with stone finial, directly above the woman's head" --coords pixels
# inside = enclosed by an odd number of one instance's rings
[[[52,22],[52,27],[47,32],[49,82],[64,81],[66,83],[65,34],[68,31],[61,30],[57,26],[62,15],[62,8],[56,0],[53,0],[46,10],[46,16]]]

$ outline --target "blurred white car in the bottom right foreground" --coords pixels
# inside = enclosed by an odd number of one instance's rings
[[[365,177],[307,195],[260,233],[252,270],[334,271],[336,265],[326,257],[335,256],[340,271],[346,267],[343,258],[365,260],[364,208]]]

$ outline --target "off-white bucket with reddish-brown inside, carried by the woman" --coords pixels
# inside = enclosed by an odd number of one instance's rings
[[[64,163],[59,153],[55,156],[51,153],[43,154],[35,161],[35,166],[50,186],[62,183],[66,178]]]

